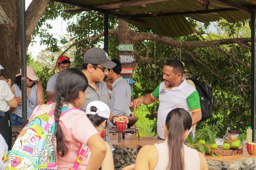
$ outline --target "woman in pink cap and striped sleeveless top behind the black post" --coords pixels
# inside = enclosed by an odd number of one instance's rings
[[[31,66],[27,66],[27,119],[29,120],[34,108],[37,105],[44,104],[44,92],[35,71]],[[22,125],[22,99],[21,99],[21,69],[16,75],[14,85],[11,86],[12,92],[18,99],[18,106],[11,113],[11,125]]]

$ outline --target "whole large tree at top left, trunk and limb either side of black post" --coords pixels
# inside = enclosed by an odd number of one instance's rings
[[[26,11],[26,46],[39,19],[50,0],[33,0]],[[0,5],[11,24],[0,24],[0,64],[5,68],[1,75],[15,79],[21,68],[20,58],[20,11],[19,0],[0,0]]]

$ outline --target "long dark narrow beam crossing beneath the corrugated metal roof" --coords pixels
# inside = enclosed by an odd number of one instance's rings
[[[211,9],[211,10],[200,10],[200,11],[186,11],[186,12],[171,12],[171,13],[157,13],[157,14],[138,14],[132,15],[134,18],[143,17],[159,17],[159,16],[173,16],[173,15],[189,15],[189,14],[207,14],[213,12],[225,12],[225,11],[237,11],[235,8],[224,8],[224,9]]]

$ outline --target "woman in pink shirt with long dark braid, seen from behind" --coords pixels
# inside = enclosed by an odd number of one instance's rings
[[[77,69],[66,69],[58,74],[54,91],[56,103],[53,103],[58,170],[74,166],[81,143],[90,148],[91,159],[89,162],[82,159],[79,169],[97,170],[105,158],[107,149],[103,139],[86,114],[79,109],[86,98],[87,86],[87,78]]]

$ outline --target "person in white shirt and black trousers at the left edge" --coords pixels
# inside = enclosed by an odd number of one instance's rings
[[[1,70],[4,69],[0,65]],[[10,115],[7,112],[11,112],[18,106],[18,101],[11,91],[11,79],[0,79],[0,134],[4,137],[8,144],[8,149],[11,149],[11,121]]]

